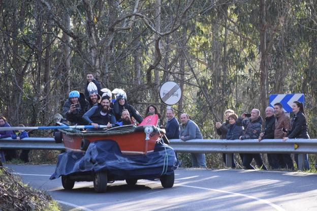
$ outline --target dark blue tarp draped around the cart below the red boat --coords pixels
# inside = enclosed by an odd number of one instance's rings
[[[91,171],[107,171],[114,180],[157,179],[160,175],[171,174],[177,166],[175,152],[170,146],[157,143],[154,152],[147,155],[122,155],[115,141],[103,140],[90,143],[85,153],[70,151],[58,155],[50,179]]]

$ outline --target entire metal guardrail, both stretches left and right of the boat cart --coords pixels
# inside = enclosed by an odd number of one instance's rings
[[[304,155],[317,154],[317,139],[258,139],[226,140],[226,139],[193,139],[182,141],[170,139],[170,146],[179,153],[225,153],[227,167],[232,166],[233,153],[288,153],[299,154],[299,169],[304,169]],[[63,143],[55,143],[54,138],[11,138],[0,139],[0,149],[47,149],[64,150]],[[228,159],[230,158],[230,159]]]

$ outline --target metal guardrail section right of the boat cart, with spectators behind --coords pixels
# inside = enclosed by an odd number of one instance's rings
[[[298,154],[298,169],[304,170],[305,154],[317,154],[317,139],[170,139],[170,146],[179,153],[225,153],[226,166],[232,167],[233,153]]]

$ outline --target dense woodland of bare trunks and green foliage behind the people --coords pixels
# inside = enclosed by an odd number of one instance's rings
[[[51,125],[92,72],[103,87],[125,89],[140,113],[154,103],[165,114],[158,87],[176,81],[183,96],[173,107],[205,138],[217,137],[214,124],[227,108],[241,114],[267,106],[270,94],[303,93],[316,138],[316,7],[311,0],[7,1],[0,114],[12,125]]]

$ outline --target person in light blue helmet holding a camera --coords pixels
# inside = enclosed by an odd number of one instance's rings
[[[62,108],[62,115],[71,125],[86,125],[87,122],[82,118],[84,113],[90,109],[88,101],[83,93],[72,91],[68,95],[68,100]]]

